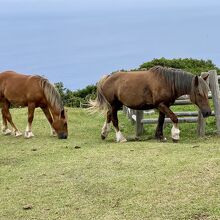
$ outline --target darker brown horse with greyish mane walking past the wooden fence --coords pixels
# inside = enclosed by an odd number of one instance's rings
[[[160,66],[148,71],[117,72],[104,76],[97,84],[96,100],[90,103],[91,108],[107,113],[101,132],[102,139],[107,137],[112,122],[117,142],[126,141],[119,130],[117,118],[117,111],[125,105],[136,110],[157,108],[159,118],[155,137],[161,141],[166,140],[163,136],[163,124],[167,115],[173,122],[172,139],[179,140],[178,118],[169,107],[178,97],[187,94],[192,103],[200,108],[203,116],[208,117],[211,109],[208,85],[205,82],[207,77],[203,79],[182,70]]]

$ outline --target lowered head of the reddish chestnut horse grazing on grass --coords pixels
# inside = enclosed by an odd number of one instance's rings
[[[56,131],[59,139],[67,139],[68,137],[67,117],[64,109],[61,110],[60,116],[54,119],[52,126]]]

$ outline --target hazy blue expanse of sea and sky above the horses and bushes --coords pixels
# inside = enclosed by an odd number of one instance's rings
[[[220,1],[0,0],[0,71],[69,89],[153,58],[220,66]]]

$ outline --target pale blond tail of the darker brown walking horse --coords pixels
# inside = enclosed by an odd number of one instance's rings
[[[103,76],[100,81],[97,83],[97,97],[95,100],[89,101],[89,110],[91,112],[107,112],[111,109],[111,105],[103,94],[102,85],[105,80],[109,77],[109,75]]]

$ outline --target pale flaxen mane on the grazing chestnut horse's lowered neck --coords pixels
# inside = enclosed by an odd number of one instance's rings
[[[40,80],[40,86],[44,91],[44,95],[47,101],[50,103],[52,108],[58,109],[59,111],[63,110],[63,102],[61,96],[55,86],[51,84],[48,79],[37,76]]]

